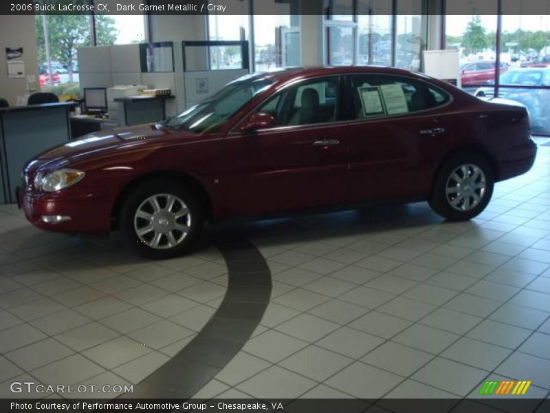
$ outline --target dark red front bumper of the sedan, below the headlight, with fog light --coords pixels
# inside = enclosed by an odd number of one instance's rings
[[[36,193],[18,188],[17,204],[34,226],[47,231],[80,233],[111,230],[112,202],[104,195]],[[51,220],[52,217],[63,217],[63,220]]]

